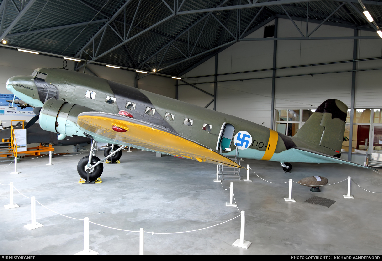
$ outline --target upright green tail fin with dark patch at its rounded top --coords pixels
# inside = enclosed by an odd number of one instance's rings
[[[341,151],[348,106],[340,100],[321,103],[294,138]]]

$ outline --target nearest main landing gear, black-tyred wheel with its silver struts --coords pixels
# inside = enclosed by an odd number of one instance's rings
[[[95,156],[95,153],[97,152],[97,142],[92,139],[92,147],[89,156],[84,156],[77,164],[77,172],[79,176],[86,180],[86,182],[82,184],[94,184],[94,182],[90,181],[96,180],[102,175],[102,172],[104,171],[104,165],[102,163],[113,155],[121,153],[123,148],[125,148],[125,146],[121,146],[115,150],[114,153],[110,153],[105,156],[105,158],[99,159]]]

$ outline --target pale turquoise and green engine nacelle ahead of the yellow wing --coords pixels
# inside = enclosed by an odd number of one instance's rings
[[[57,139],[65,139],[73,135],[86,137],[77,127],[77,116],[85,111],[94,111],[85,106],[70,104],[63,100],[50,98],[45,101],[40,111],[40,127],[44,130],[56,132]]]

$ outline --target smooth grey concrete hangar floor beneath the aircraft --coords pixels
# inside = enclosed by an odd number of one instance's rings
[[[102,154],[102,152],[99,152]],[[226,207],[229,190],[215,178],[216,166],[136,150],[123,152],[121,164],[104,164],[103,182],[78,184],[78,160],[87,154],[21,161],[20,174],[9,174],[13,165],[1,170],[0,182],[13,181],[16,188],[59,213],[121,229],[180,232],[211,226],[239,215]],[[244,165],[272,182],[321,175],[334,183],[349,175],[362,187],[382,191],[382,176],[374,171],[340,164],[294,163],[284,173],[277,162],[245,160]],[[0,168],[6,166],[0,164]],[[382,173],[382,171],[381,171]],[[245,239],[248,250],[232,246],[240,237],[240,217],[220,226],[184,234],[145,234],[145,254],[380,254],[382,246],[382,194],[369,193],[347,183],[310,192],[293,183],[292,197],[285,202],[288,184],[270,184],[254,174],[253,182],[233,181],[236,202],[246,211]],[[304,202],[312,196],[335,200],[326,208]],[[9,187],[0,186],[2,205],[9,204]],[[74,254],[83,249],[83,221],[69,219],[40,205],[37,222],[44,227],[27,230],[30,200],[15,192],[19,208],[0,209],[2,254]],[[104,214],[99,214],[104,211]],[[90,248],[100,254],[137,254],[139,235],[90,224]]]

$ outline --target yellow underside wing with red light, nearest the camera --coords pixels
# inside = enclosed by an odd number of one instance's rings
[[[235,161],[203,146],[197,142],[181,137],[169,130],[148,122],[112,113],[89,111],[78,114],[77,125],[84,132],[103,139],[116,140],[136,147],[166,153],[182,158],[206,161],[213,164],[224,164],[242,168]],[[113,126],[127,130],[116,132]]]

